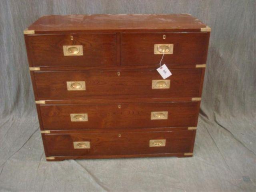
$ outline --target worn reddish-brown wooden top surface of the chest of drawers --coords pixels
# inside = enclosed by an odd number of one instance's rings
[[[206,25],[190,14],[96,14],[42,16],[28,27],[36,34],[68,32],[200,32]]]

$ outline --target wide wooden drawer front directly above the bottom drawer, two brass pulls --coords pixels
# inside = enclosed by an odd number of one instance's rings
[[[40,105],[44,130],[196,126],[200,102]]]

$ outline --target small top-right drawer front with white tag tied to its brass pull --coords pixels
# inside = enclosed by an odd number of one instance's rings
[[[165,39],[164,39],[165,35]],[[166,52],[162,64],[168,66],[206,64],[209,33],[123,33],[121,35],[121,55],[123,66],[159,66],[162,54]],[[168,50],[165,50],[166,45]],[[159,50],[159,51],[158,51]]]

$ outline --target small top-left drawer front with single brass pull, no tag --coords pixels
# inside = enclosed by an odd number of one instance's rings
[[[26,45],[30,66],[116,65],[115,34],[32,35]]]

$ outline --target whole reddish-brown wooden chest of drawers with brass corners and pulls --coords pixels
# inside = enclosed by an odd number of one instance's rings
[[[189,14],[55,15],[24,36],[46,160],[193,155],[208,26]]]

